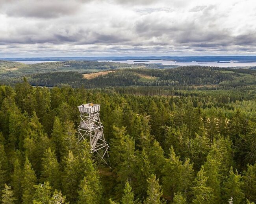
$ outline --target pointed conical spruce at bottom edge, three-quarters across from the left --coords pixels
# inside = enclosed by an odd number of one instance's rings
[[[214,200],[213,190],[211,187],[206,186],[207,177],[205,176],[204,166],[201,167],[195,178],[192,193],[194,198],[192,203],[195,204],[211,204]]]

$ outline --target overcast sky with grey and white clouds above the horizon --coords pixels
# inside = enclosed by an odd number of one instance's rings
[[[0,0],[0,57],[256,55],[255,0]]]

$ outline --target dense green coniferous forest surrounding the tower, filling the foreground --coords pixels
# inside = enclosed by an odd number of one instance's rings
[[[2,203],[256,202],[254,71],[178,70],[112,73],[115,88],[0,86]],[[166,86],[115,81],[134,72]],[[182,88],[168,88],[171,81]],[[77,106],[89,102],[101,104],[111,168],[77,143]]]

